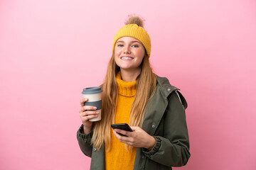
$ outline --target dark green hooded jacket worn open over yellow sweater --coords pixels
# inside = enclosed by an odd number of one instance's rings
[[[186,100],[176,87],[171,86],[168,79],[156,77],[156,94],[149,100],[142,123],[142,129],[156,139],[156,145],[151,151],[137,148],[134,170],[171,169],[171,166],[186,165],[190,157],[184,111]],[[97,150],[92,147],[90,142],[93,130],[85,135],[81,133],[82,129],[81,125],[77,138],[82,152],[92,158],[90,169],[105,169],[105,148]]]

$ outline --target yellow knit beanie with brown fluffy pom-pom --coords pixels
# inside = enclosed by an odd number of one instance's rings
[[[114,52],[114,45],[119,38],[122,37],[133,37],[142,42],[146,49],[146,54],[150,57],[151,52],[151,40],[149,34],[143,28],[143,20],[138,16],[132,16],[128,19],[127,25],[120,28],[114,35],[112,52]]]

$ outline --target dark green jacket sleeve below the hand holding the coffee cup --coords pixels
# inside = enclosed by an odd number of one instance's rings
[[[87,157],[92,157],[92,131],[88,134],[82,134],[83,125],[80,126],[77,132],[78,144],[82,153],[84,153]]]

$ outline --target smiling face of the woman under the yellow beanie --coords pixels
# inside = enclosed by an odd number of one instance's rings
[[[144,46],[136,38],[122,37],[114,45],[114,61],[122,70],[140,72],[145,55]]]

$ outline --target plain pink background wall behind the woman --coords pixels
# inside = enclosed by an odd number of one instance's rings
[[[130,13],[188,101],[191,159],[174,169],[256,169],[255,0],[1,0],[0,169],[89,169],[81,91],[102,83]]]

